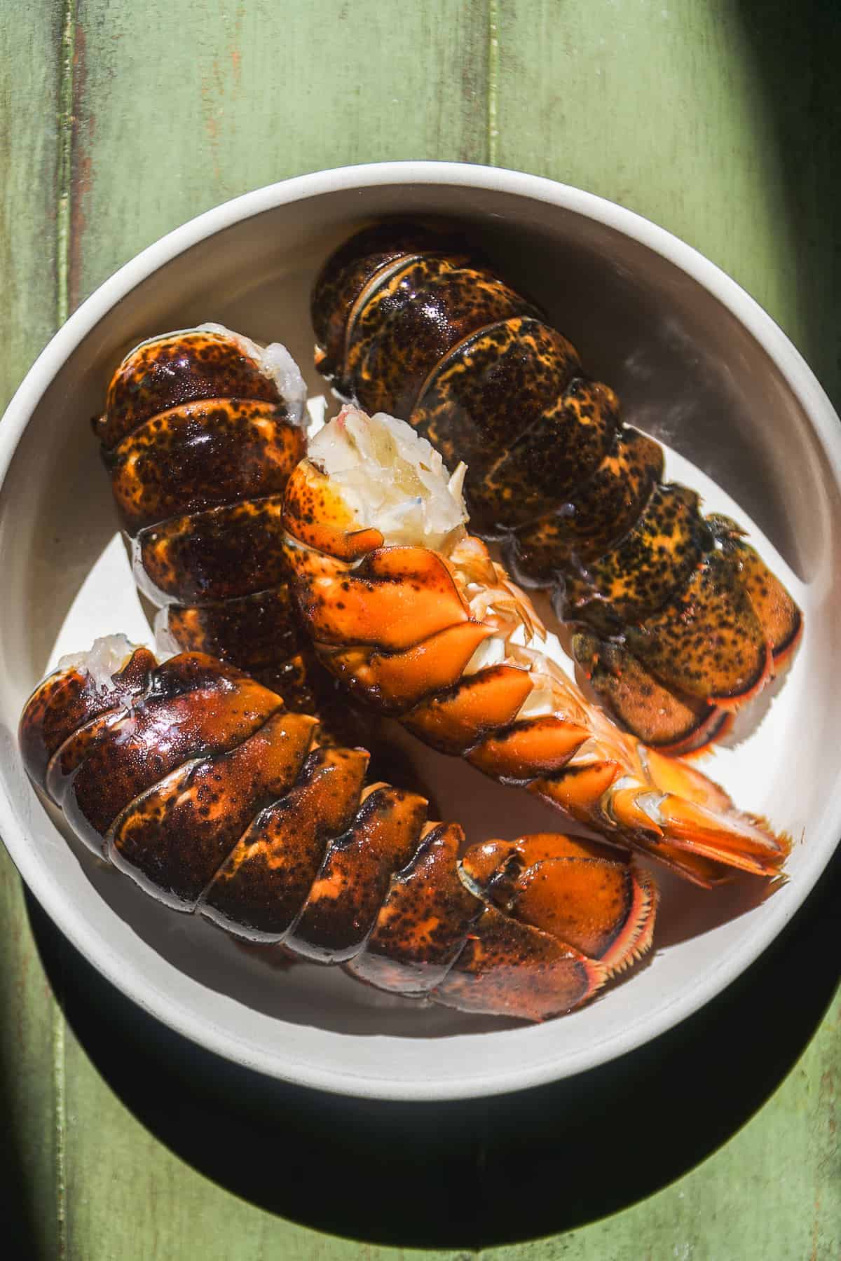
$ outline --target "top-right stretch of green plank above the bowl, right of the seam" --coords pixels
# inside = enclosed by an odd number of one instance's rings
[[[502,166],[637,211],[724,267],[841,402],[841,9],[494,0]]]

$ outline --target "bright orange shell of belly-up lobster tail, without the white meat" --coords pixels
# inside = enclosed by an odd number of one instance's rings
[[[343,417],[334,424],[342,431]],[[320,487],[324,503],[340,496],[340,485],[304,460],[284,520],[304,622],[322,660],[357,695],[434,748],[527,786],[576,822],[700,884],[717,883],[722,864],[779,873],[786,839],[736,811],[700,772],[617,730],[541,653],[540,619],[483,543],[463,535],[445,554],[373,546],[354,560],[343,547],[338,555],[316,551],[298,528],[299,485]],[[308,527],[313,538],[311,521]],[[469,649],[480,653],[494,636],[504,660],[470,665]]]

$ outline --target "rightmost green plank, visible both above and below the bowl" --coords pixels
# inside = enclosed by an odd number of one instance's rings
[[[695,245],[782,324],[838,406],[837,6],[820,0],[797,10],[777,0],[494,4],[501,165],[586,188]],[[823,914],[823,948],[832,950],[833,912]],[[837,963],[830,962],[826,975],[831,982]],[[783,992],[780,986],[780,1001]],[[487,1256],[837,1257],[840,1023],[836,994],[779,1090],[672,1187],[554,1240]],[[710,1073],[730,1068],[725,1048]],[[675,1107],[681,1108],[677,1096]],[[604,1177],[620,1177],[623,1164],[644,1161],[646,1151],[647,1135],[629,1134]]]

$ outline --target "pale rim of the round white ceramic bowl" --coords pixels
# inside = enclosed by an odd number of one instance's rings
[[[841,426],[830,398],[803,357],[770,315],[720,267],[664,228],[593,193],[523,171],[445,161],[371,163],[285,179],[203,212],[135,255],[105,280],[58,329],[14,393],[0,422],[0,485],[5,480],[33,411],[57,373],[96,324],[153,272],[208,237],[266,211],[328,193],[390,184],[478,188],[483,192],[501,192],[543,202],[614,228],[672,262],[730,310],[763,347],[803,407],[836,484],[841,487]],[[557,1062],[541,1061],[522,1067],[514,1059],[511,1068],[490,1074],[479,1072],[469,1079],[431,1082],[419,1077],[382,1081],[373,1074],[344,1076],[298,1057],[290,1057],[285,1062],[282,1047],[271,1052],[253,1045],[246,1047],[236,1035],[231,1037],[224,1028],[221,1028],[212,1015],[185,1014],[175,997],[161,992],[154,982],[141,976],[137,984],[132,972],[126,973],[119,953],[97,929],[91,929],[81,908],[62,897],[55,881],[44,881],[40,878],[37,851],[30,846],[25,828],[18,821],[5,781],[5,772],[0,773],[0,837],[18,871],[72,944],[112,985],[171,1029],[226,1059],[281,1081],[366,1098],[431,1102],[499,1095],[571,1077],[637,1049],[697,1011],[741,975],[782,932],[820,879],[833,852],[833,847],[827,846],[826,855],[821,856],[822,861],[816,861],[799,878],[797,904],[783,899],[779,913],[760,924],[749,943],[711,967],[706,977],[691,987],[682,999],[664,1004],[644,1028],[638,1023],[629,1029],[620,1029],[613,1038],[603,1039],[599,1045],[583,1049],[566,1059],[560,1058]],[[833,835],[838,836],[841,792],[835,794],[833,805],[831,826]]]

